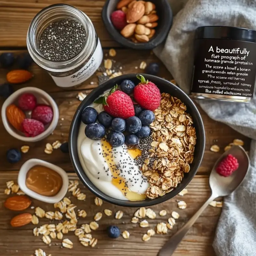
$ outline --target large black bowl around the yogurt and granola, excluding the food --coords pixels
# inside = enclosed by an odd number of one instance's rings
[[[92,193],[94,193],[96,196],[100,197],[104,201],[108,201],[112,204],[117,204],[120,206],[129,206],[129,207],[145,207],[155,204],[160,204],[173,196],[176,196],[183,188],[185,188],[188,183],[192,180],[192,178],[195,176],[196,171],[202,161],[203,154],[204,154],[204,144],[205,144],[205,134],[204,134],[204,124],[202,121],[202,118],[193,103],[193,101],[188,97],[188,95],[180,90],[176,85],[170,83],[167,80],[164,80],[157,76],[151,76],[147,74],[142,74],[145,76],[146,79],[149,81],[152,81],[155,83],[161,92],[167,92],[171,95],[177,97],[180,99],[184,104],[187,106],[187,112],[192,116],[194,121],[194,126],[196,128],[196,135],[197,135],[197,142],[195,146],[195,155],[194,155],[194,161],[190,165],[190,171],[188,173],[184,174],[184,178],[181,181],[181,183],[178,185],[177,188],[172,190],[170,193],[158,197],[156,199],[146,199],[144,201],[125,201],[125,200],[119,200],[115,199],[113,197],[107,196],[106,194],[102,193],[98,188],[96,188],[93,183],[88,179],[86,176],[79,158],[77,154],[77,136],[79,131],[79,126],[81,124],[81,113],[83,109],[87,106],[89,106],[95,99],[97,99],[104,91],[112,88],[116,84],[120,84],[125,79],[132,80],[135,84],[138,83],[138,79],[136,78],[136,74],[127,74],[122,76],[117,76],[113,79],[110,79],[109,81],[101,84],[97,88],[95,88],[90,94],[86,96],[86,98],[82,101],[80,106],[77,108],[76,113],[73,117],[71,126],[70,126],[70,132],[69,132],[69,152],[70,152],[70,158],[71,162],[74,166],[74,169],[79,177],[79,179],[82,181],[85,187],[89,188]],[[85,136],[85,135],[84,135]]]

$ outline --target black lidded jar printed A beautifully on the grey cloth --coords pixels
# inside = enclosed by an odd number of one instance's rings
[[[191,97],[249,102],[255,84],[255,43],[254,30],[225,26],[197,28]]]

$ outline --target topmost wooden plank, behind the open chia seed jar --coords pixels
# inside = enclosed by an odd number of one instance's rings
[[[57,3],[60,1],[0,1],[0,47],[26,47],[28,27],[32,19],[44,7]],[[61,3],[73,5],[89,16],[103,47],[120,46],[110,37],[101,20],[104,0],[66,0]]]

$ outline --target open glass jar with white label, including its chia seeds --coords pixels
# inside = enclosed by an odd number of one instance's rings
[[[83,83],[103,58],[92,21],[68,4],[53,4],[36,14],[28,28],[27,46],[33,60],[60,87]]]

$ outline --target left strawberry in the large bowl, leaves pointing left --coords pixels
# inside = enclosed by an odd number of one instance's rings
[[[117,90],[114,86],[109,94],[95,100],[95,103],[102,103],[104,110],[111,116],[127,119],[135,115],[132,99],[126,93]]]

